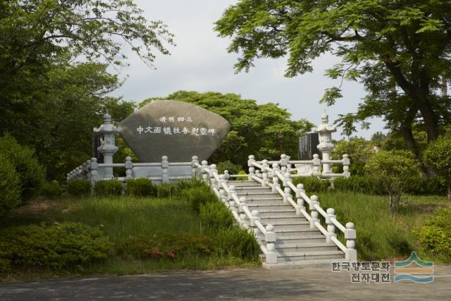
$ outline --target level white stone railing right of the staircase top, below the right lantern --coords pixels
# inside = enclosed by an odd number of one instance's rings
[[[263,161],[257,161],[258,164],[262,164]],[[347,154],[343,154],[341,160],[322,160],[319,159],[318,154],[313,155],[311,160],[291,160],[290,156],[286,154],[280,155],[278,161],[267,161],[267,164],[271,165],[277,163],[281,168],[287,168],[287,171],[295,171],[292,174],[292,178],[301,176],[322,176],[323,178],[349,178],[350,173],[350,159]],[[342,173],[331,173],[330,166],[343,166]]]

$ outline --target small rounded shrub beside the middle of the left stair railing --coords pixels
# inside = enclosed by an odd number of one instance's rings
[[[203,225],[212,229],[229,228],[233,225],[232,214],[220,201],[202,204],[199,219]]]

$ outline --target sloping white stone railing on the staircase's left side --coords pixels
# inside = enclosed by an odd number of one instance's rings
[[[246,197],[238,197],[234,185],[228,185],[227,180],[229,177],[236,176],[246,177],[247,175],[232,175],[228,174],[228,171],[224,171],[222,175],[218,175],[218,170],[215,164],[208,165],[207,161],[202,161],[201,164],[195,164],[198,168],[199,176],[202,175],[202,179],[209,183],[211,189],[214,191],[218,199],[223,202],[230,210],[231,214],[235,218],[235,221],[241,228],[249,229],[259,242],[261,252],[265,254],[266,263],[277,263],[276,252],[276,233],[274,232],[274,226],[268,224],[264,226],[260,221],[259,211],[250,211],[247,207]],[[263,244],[258,238],[259,233],[265,237],[266,245]]]

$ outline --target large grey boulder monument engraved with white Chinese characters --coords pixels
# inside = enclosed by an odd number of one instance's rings
[[[154,100],[119,125],[119,133],[142,162],[208,159],[230,130],[226,119],[187,102]]]

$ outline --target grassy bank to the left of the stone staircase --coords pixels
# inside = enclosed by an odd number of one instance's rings
[[[82,199],[63,198],[58,201],[40,200],[18,209],[1,227],[31,223],[61,223],[74,221],[100,228],[113,242],[113,254],[92,266],[64,270],[14,269],[1,276],[4,281],[25,281],[55,276],[71,277],[96,274],[142,274],[169,269],[215,269],[228,266],[260,266],[258,260],[245,260],[228,254],[209,255],[183,253],[175,259],[136,259],[132,254],[118,254],[127,238],[156,239],[159,235],[193,235],[214,238],[214,231],[202,225],[190,204],[177,198],[155,199],[137,197]]]

